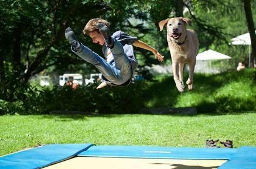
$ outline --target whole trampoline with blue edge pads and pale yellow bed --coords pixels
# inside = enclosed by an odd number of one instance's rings
[[[256,147],[217,149],[93,144],[45,145],[0,157],[0,168],[256,168]]]

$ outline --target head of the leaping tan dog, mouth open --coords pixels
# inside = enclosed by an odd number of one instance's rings
[[[161,20],[158,25],[160,31],[166,25],[168,36],[170,40],[180,42],[186,38],[186,25],[190,23],[190,19],[186,17],[172,17]]]

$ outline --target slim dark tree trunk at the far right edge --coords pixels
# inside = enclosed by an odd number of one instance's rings
[[[249,67],[254,66],[254,58],[256,58],[256,35],[255,35],[255,27],[254,22],[252,19],[252,12],[251,12],[251,0],[244,0],[244,11],[245,17],[247,20],[247,27],[251,37],[251,61],[249,63]]]

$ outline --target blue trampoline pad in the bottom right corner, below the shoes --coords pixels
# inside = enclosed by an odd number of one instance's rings
[[[240,147],[226,163],[218,169],[256,168],[256,147]]]

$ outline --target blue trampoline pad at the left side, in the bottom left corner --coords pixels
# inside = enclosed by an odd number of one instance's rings
[[[42,168],[70,159],[93,144],[46,145],[0,157],[0,168]]]

